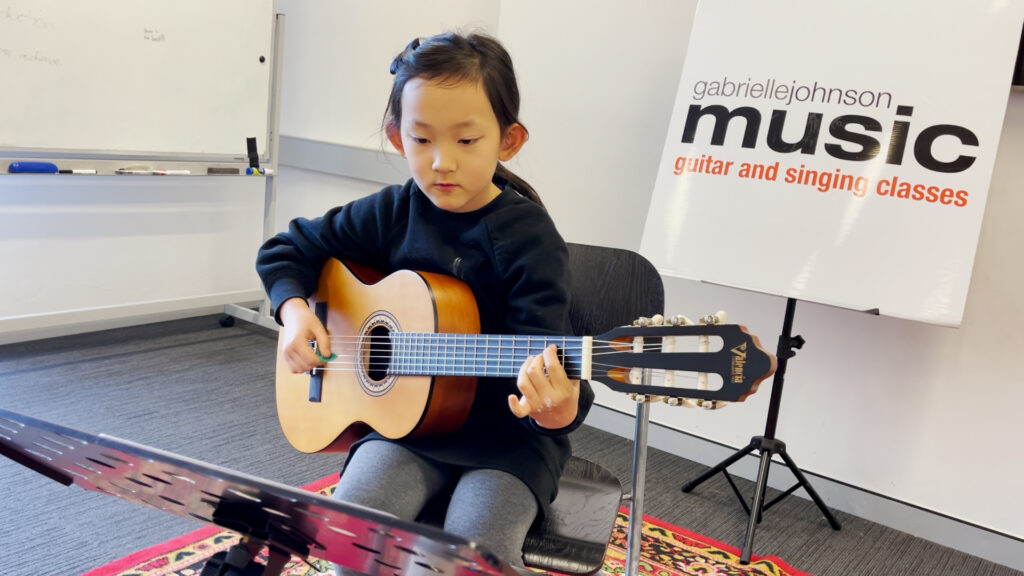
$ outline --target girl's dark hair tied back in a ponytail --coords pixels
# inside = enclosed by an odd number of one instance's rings
[[[519,123],[519,85],[512,69],[512,58],[501,43],[483,34],[462,36],[444,33],[426,40],[410,42],[391,61],[394,84],[384,112],[384,126],[401,125],[401,91],[414,78],[442,79],[451,82],[480,82],[490,108],[498,117],[502,135],[509,126]],[[523,130],[525,130],[525,126]],[[495,174],[507,180],[523,196],[544,206],[537,191],[511,170],[498,164]]]

